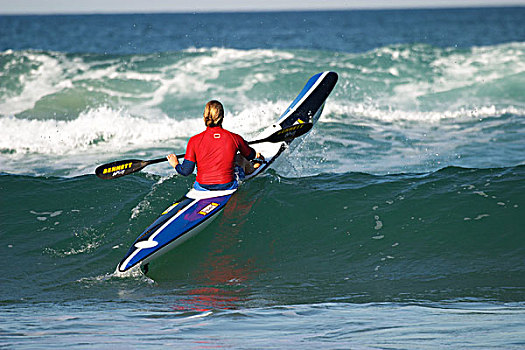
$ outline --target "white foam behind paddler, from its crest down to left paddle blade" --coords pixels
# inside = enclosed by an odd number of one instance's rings
[[[285,102],[256,103],[240,113],[227,110],[224,127],[253,139],[277,119]],[[129,157],[161,157],[182,153],[188,139],[205,129],[202,117],[176,120],[146,110],[134,115],[125,108],[90,109],[72,120],[21,119],[0,116],[0,169],[8,173],[76,176],[92,173],[104,162]],[[54,169],[54,170],[53,170]],[[155,166],[148,168],[156,171]],[[159,168],[162,175],[170,167]]]

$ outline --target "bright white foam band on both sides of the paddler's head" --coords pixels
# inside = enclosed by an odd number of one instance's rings
[[[224,126],[243,135],[255,134],[276,120],[283,103],[253,105],[235,115],[227,112]],[[135,116],[124,109],[104,106],[83,112],[73,120],[0,117],[0,149],[17,154],[78,154],[105,148],[185,146],[192,135],[205,128],[202,118],[175,120],[166,115]]]

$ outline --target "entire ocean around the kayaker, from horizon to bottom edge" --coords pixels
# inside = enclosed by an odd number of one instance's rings
[[[525,347],[525,8],[0,16],[0,347]],[[293,152],[147,276],[138,234],[209,99]]]

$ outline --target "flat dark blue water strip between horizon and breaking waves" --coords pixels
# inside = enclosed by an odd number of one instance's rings
[[[525,40],[525,8],[3,16],[0,50],[137,54],[192,47],[363,52],[393,44]]]

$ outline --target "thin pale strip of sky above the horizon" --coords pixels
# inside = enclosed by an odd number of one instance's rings
[[[525,0],[0,0],[1,14],[525,6]]]

